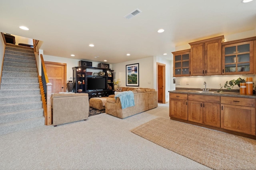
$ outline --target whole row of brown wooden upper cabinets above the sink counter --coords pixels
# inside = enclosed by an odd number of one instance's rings
[[[204,39],[172,52],[173,76],[256,74],[256,37],[223,40],[223,35]]]

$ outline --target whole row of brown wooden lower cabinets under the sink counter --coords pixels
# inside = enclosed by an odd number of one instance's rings
[[[256,96],[170,92],[170,119],[256,139]]]

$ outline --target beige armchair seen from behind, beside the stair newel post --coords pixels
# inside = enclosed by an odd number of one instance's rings
[[[52,94],[52,124],[54,126],[79,120],[89,116],[89,97],[87,93]]]

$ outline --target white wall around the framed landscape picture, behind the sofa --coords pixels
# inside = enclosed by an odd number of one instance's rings
[[[156,74],[156,72],[154,73],[154,57],[147,57],[145,59],[112,64],[112,70],[114,70],[114,78],[121,80],[119,86],[126,87],[126,65],[136,63],[139,63],[139,87],[155,88],[154,77],[156,77],[156,75],[154,74]],[[138,86],[131,87],[137,88]]]

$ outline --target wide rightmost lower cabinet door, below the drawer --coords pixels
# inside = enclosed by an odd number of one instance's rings
[[[222,104],[221,128],[255,135],[255,107]]]

